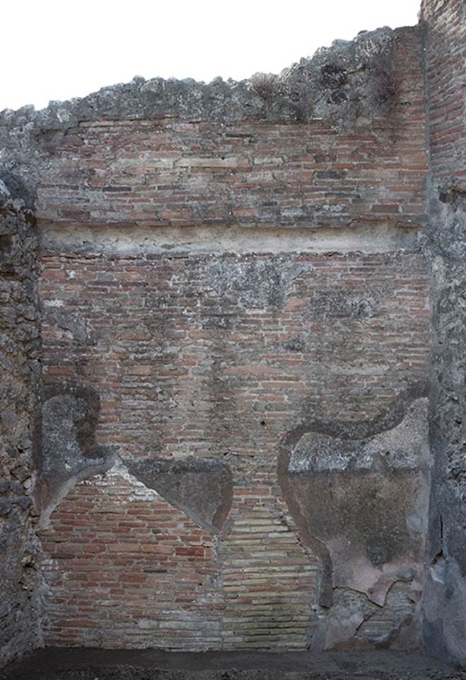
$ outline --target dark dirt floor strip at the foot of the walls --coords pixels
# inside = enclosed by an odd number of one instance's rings
[[[205,652],[39,650],[1,680],[466,680],[420,652]]]

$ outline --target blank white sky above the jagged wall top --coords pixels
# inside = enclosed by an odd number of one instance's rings
[[[135,75],[278,73],[335,38],[413,26],[421,0],[0,0],[0,111]]]

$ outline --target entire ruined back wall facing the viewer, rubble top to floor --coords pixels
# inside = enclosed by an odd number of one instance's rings
[[[418,644],[421,48],[0,116],[41,239],[47,644]]]

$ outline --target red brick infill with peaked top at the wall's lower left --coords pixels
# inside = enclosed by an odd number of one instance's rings
[[[48,644],[221,646],[216,539],[124,471],[81,482],[41,537]]]

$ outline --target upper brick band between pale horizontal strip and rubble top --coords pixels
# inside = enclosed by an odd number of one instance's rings
[[[416,230],[424,215],[419,33],[400,30],[390,113],[347,133],[329,120],[219,124],[98,120],[51,132],[37,217],[56,232],[105,225]],[[45,143],[45,142],[44,142]],[[52,149],[52,150],[51,150]]]

